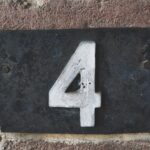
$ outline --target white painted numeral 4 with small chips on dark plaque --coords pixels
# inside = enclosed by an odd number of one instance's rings
[[[80,89],[65,93],[80,73]],[[95,93],[95,42],[84,41],[69,60],[61,75],[49,91],[50,107],[80,108],[81,127],[95,125],[95,108],[101,106],[101,95]]]

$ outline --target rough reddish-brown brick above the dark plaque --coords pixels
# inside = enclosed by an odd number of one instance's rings
[[[10,0],[0,14],[0,29],[148,27],[150,1]]]

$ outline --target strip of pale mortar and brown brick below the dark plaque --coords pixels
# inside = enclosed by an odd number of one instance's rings
[[[149,150],[150,134],[54,135],[1,133],[0,150]]]

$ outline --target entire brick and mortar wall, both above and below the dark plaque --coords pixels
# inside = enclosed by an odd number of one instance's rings
[[[0,0],[0,29],[150,27],[149,0]],[[149,150],[150,134],[0,133],[0,150]]]

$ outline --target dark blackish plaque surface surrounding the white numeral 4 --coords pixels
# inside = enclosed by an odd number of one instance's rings
[[[95,127],[48,92],[81,41],[96,43]],[[74,83],[75,84],[75,83]],[[57,97],[56,97],[57,98]],[[150,29],[0,32],[0,126],[7,132],[150,132]]]

